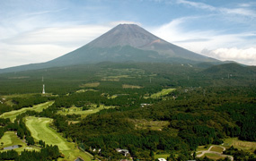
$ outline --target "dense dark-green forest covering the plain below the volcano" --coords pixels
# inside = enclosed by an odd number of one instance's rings
[[[55,103],[42,112],[19,114],[14,123],[0,117],[0,136],[4,131],[17,131],[27,144],[39,143],[42,147],[40,152],[24,151],[20,155],[13,150],[2,152],[1,158],[11,153],[13,157],[8,158],[13,160],[42,154],[46,160],[60,157],[58,149],[47,157],[44,151],[51,149],[45,148],[53,147],[33,140],[24,123],[29,115],[52,118],[53,128],[101,160],[125,158],[116,148],[128,149],[126,158],[154,160],[154,154],[168,153],[169,160],[189,160],[194,159],[191,154],[198,146],[219,145],[225,138],[255,141],[255,75],[255,68],[238,64],[142,63],[4,73],[0,75],[0,114],[49,100]],[[43,84],[44,95],[40,94]],[[173,90],[151,97],[162,89]],[[72,106],[92,111],[93,105],[114,107],[103,107],[86,117],[58,113]],[[76,122],[69,123],[72,121]],[[236,153],[243,152],[226,150],[226,154]],[[241,156],[235,158],[255,159],[255,154],[248,152]]]

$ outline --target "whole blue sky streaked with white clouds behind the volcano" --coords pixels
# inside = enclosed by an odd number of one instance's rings
[[[46,62],[119,23],[201,55],[256,65],[254,0],[0,0],[0,68]]]

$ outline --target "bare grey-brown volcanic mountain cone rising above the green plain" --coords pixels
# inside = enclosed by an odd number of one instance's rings
[[[75,64],[93,64],[106,61],[181,64],[218,62],[216,59],[175,46],[162,38],[154,36],[136,24],[119,24],[87,45],[47,63],[22,65],[4,69],[2,72]]]

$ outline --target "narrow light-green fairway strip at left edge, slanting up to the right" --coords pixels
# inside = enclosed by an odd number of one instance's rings
[[[19,110],[14,110],[14,111],[10,111],[10,112],[6,112],[4,114],[1,114],[0,117],[3,118],[10,118],[10,120],[12,122],[14,122],[14,120],[16,119],[16,116],[22,113],[25,113],[28,110],[33,110],[36,112],[41,112],[43,109],[48,108],[49,106],[51,106],[54,103],[54,101],[49,101],[49,102],[45,102],[36,106],[32,106],[32,107],[24,107],[22,109]]]

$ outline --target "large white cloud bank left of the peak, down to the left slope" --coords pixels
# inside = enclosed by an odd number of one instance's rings
[[[111,29],[110,25],[44,28],[0,40],[0,68],[42,63],[82,47]]]

